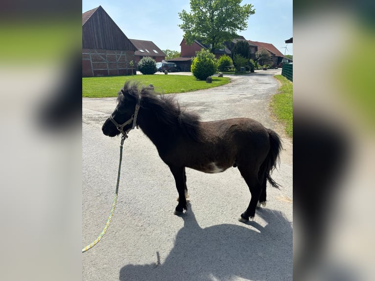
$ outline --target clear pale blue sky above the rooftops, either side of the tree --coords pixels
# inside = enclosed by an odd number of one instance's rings
[[[271,43],[281,53],[293,54],[292,0],[243,0],[253,4],[255,14],[249,17],[247,30],[238,32],[247,40]],[[82,0],[82,13],[101,5],[130,39],[149,40],[161,49],[180,51],[184,33],[178,27],[178,13],[190,10],[189,0]],[[283,47],[287,47],[286,50]]]

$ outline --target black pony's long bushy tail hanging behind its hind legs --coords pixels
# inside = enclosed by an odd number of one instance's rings
[[[282,149],[281,139],[271,129],[267,129],[270,139],[270,150],[268,155],[259,169],[260,181],[268,180],[271,186],[280,188],[280,186],[271,178],[270,173],[276,168],[277,164],[280,164],[280,152]]]

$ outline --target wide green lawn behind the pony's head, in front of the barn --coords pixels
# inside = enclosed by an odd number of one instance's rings
[[[197,80],[190,75],[128,75],[82,78],[83,97],[116,97],[125,81],[135,80],[141,85],[154,85],[155,91],[162,94],[185,93],[221,86],[230,82],[229,77],[212,77],[212,83]]]

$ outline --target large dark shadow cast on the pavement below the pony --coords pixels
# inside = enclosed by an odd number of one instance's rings
[[[120,281],[292,280],[292,227],[279,211],[257,211],[268,224],[202,229],[191,206],[163,264],[126,265]],[[258,231],[257,231],[258,230]],[[157,253],[159,255],[159,253]]]

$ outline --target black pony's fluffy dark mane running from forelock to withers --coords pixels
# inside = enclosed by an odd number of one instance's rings
[[[189,138],[198,139],[199,115],[181,108],[175,95],[160,94],[151,87],[140,88],[138,83],[129,81],[121,92],[132,96],[142,109],[153,112],[155,117],[165,126],[171,127],[171,130],[179,130]],[[121,92],[118,93],[118,102],[124,97]]]

